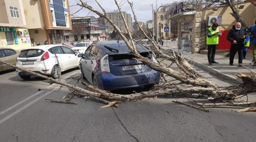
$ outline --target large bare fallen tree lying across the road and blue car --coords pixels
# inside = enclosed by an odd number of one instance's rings
[[[145,32],[144,32],[144,35],[152,43],[152,47],[148,47],[148,48],[151,48],[153,52],[152,53],[153,56],[157,55],[156,59],[158,59],[158,63],[152,62],[147,58],[142,57],[141,55],[139,55],[138,51],[136,50],[134,40],[131,36],[132,32],[130,32],[130,29],[128,28],[127,24],[125,24],[125,27],[126,27],[126,30],[129,31],[128,32],[129,38],[127,38],[121,32],[121,30],[114,24],[112,19],[108,17],[108,14],[100,5],[100,3],[97,0],[96,2],[101,7],[103,13],[97,10],[94,10],[92,6],[89,6],[87,3],[83,2],[82,0],[80,0],[80,3],[78,3],[78,5],[85,7],[86,9],[89,9],[95,12],[96,14],[98,14],[99,16],[101,16],[102,18],[105,18],[106,20],[108,20],[108,22],[112,24],[112,26],[115,28],[118,34],[125,41],[127,47],[129,47],[130,51],[133,53],[133,55],[137,60],[141,60],[144,64],[150,66],[150,68],[162,73],[163,75],[162,78],[164,80],[161,86],[155,87],[155,89],[152,89],[150,91],[143,91],[141,93],[123,95],[123,94],[114,94],[109,91],[98,89],[97,87],[89,85],[88,83],[82,82],[80,80],[83,85],[85,85],[89,90],[92,90],[92,91],[89,91],[77,86],[70,85],[65,82],[54,80],[53,78],[43,76],[42,74],[31,72],[30,70],[18,68],[17,66],[11,65],[5,61],[0,60],[0,62],[6,65],[13,66],[13,68],[16,68],[18,70],[23,70],[24,72],[28,72],[34,76],[42,77],[51,82],[58,83],[63,86],[67,86],[75,90],[75,92],[73,93],[79,94],[82,97],[89,96],[90,98],[96,99],[97,101],[106,103],[108,106],[116,106],[116,107],[118,107],[118,103],[121,103],[124,101],[136,101],[144,98],[154,98],[158,96],[167,96],[167,95],[179,96],[179,97],[190,97],[190,98],[204,97],[212,102],[225,101],[228,103],[232,103],[236,101],[237,98],[240,98],[244,95],[247,95],[248,93],[252,93],[256,91],[256,73],[251,72],[250,75],[237,74],[237,77],[240,77],[243,81],[243,83],[241,83],[240,85],[229,86],[229,87],[218,86],[216,83],[208,80],[207,78],[197,73],[196,70],[193,69],[193,67],[189,65],[189,63],[183,58],[183,55],[181,53],[175,53],[175,52],[168,53],[168,52],[164,52],[163,50],[160,50],[156,42],[153,40],[153,38],[148,37]],[[129,1],[127,2],[130,4],[131,9],[133,10],[133,3]],[[118,7],[118,10],[122,11],[117,0],[115,0],[115,3]],[[134,11],[133,11],[133,14],[134,14]],[[135,14],[134,14],[134,19],[135,19],[135,22],[138,23],[137,17],[135,16]],[[126,23],[125,18],[123,18],[123,20],[124,20],[124,23]],[[139,26],[139,28],[143,31],[141,26]],[[164,64],[165,61],[171,61],[171,65]],[[164,76],[168,76],[171,79],[167,79]],[[185,103],[183,103],[183,105],[185,105]],[[249,110],[253,110],[253,109],[249,109]]]

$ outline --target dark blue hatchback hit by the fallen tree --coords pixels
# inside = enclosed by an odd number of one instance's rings
[[[143,57],[154,61],[150,49],[137,44],[137,50]],[[82,77],[103,90],[152,87],[160,80],[159,72],[134,59],[124,41],[92,43],[79,57],[82,57]]]

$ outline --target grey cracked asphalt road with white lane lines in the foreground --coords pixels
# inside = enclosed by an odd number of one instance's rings
[[[203,76],[221,86],[200,69]],[[69,70],[63,81],[76,83],[80,70]],[[172,103],[186,98],[156,98],[121,103],[118,108],[90,98],[76,98],[77,105],[51,103],[62,100],[67,87],[34,77],[23,81],[15,72],[0,74],[0,141],[255,141],[256,112],[236,108],[208,108],[203,112]],[[40,90],[40,91],[39,91]],[[127,90],[121,90],[126,93]],[[256,95],[249,95],[255,99]],[[200,101],[200,100],[197,100]]]

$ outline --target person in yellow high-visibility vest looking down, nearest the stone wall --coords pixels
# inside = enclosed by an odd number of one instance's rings
[[[209,65],[212,64],[218,64],[218,62],[215,61],[215,53],[216,48],[218,44],[218,37],[221,36],[220,30],[218,30],[218,24],[213,23],[212,26],[210,26],[207,29],[207,47],[208,47],[208,62]]]

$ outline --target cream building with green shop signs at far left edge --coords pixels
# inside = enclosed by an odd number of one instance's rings
[[[0,47],[31,47],[22,0],[1,0],[0,13]]]

